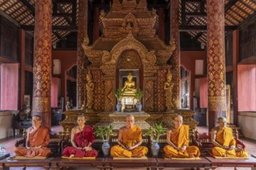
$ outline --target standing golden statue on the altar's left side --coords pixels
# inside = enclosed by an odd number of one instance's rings
[[[86,75],[86,94],[87,94],[87,111],[92,111],[93,106],[93,99],[94,99],[94,87],[95,83],[92,81],[92,74],[90,73],[90,70],[88,71],[88,74]]]

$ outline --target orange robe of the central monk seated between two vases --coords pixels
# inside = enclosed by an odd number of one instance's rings
[[[138,141],[142,141],[142,131],[138,126],[133,126],[130,130],[126,131],[122,135],[122,143],[126,147],[134,146]],[[112,146],[110,155],[112,157],[121,157],[121,158],[131,158],[135,156],[145,156],[147,155],[147,147],[138,146],[131,151],[128,151],[122,148],[119,145]]]

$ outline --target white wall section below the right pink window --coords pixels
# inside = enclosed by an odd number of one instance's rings
[[[244,137],[256,140],[256,112],[238,112],[238,126]]]

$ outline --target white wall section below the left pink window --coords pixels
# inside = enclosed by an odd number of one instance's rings
[[[16,110],[0,111],[0,139],[12,136],[12,117],[16,113]]]

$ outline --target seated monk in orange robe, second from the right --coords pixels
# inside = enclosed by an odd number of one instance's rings
[[[200,156],[199,148],[189,146],[189,126],[184,125],[181,115],[173,117],[175,127],[168,131],[168,145],[164,147],[164,155],[169,158],[194,158]]]

